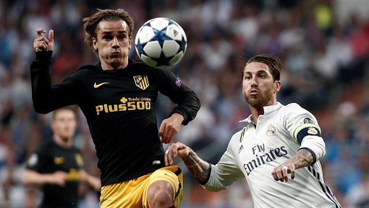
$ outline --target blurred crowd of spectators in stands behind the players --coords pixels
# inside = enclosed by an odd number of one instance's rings
[[[98,61],[84,43],[82,22],[96,8],[128,11],[135,21],[132,40],[154,17],[171,18],[184,28],[187,51],[170,70],[194,89],[202,107],[174,141],[213,163],[242,129],[238,121],[250,114],[241,91],[246,60],[277,55],[287,69],[278,101],[299,103],[322,128],[325,182],[342,207],[369,207],[368,0],[0,0],[0,207],[34,204],[20,178],[32,151],[52,135],[51,115],[36,114],[32,107],[35,30],[55,31],[51,78],[59,84],[79,66]],[[137,59],[134,49],[129,56]],[[172,108],[159,95],[158,123]],[[82,149],[86,170],[99,176],[86,120],[76,110],[74,144]],[[245,180],[211,193],[177,162],[185,173],[181,208],[253,207]],[[81,208],[98,207],[96,193],[84,185],[80,190]]]

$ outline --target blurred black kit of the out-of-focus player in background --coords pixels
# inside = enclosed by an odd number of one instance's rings
[[[41,145],[30,157],[27,169],[41,174],[66,172],[65,186],[44,184],[41,208],[77,208],[79,171],[83,166],[80,151],[74,147],[63,148],[53,140]]]

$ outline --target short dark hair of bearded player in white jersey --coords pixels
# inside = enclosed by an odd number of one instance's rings
[[[251,57],[247,60],[245,67],[247,64],[251,62],[262,62],[269,66],[270,72],[273,76],[273,81],[280,79],[280,72],[285,71],[285,68],[282,64],[282,61],[273,54],[260,54],[254,57]],[[244,67],[244,70],[245,70]],[[244,78],[244,71],[242,71],[242,78]]]

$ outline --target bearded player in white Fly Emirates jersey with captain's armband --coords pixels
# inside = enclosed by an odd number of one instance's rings
[[[166,165],[181,157],[192,176],[210,191],[246,177],[255,208],[341,208],[323,180],[319,160],[325,143],[317,120],[296,103],[277,102],[281,71],[284,67],[274,55],[247,61],[242,91],[251,115],[241,120],[245,127],[232,136],[216,165],[182,143],[168,147]]]

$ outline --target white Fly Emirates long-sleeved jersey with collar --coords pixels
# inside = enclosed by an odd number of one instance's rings
[[[305,135],[320,136],[311,113],[296,103],[277,103],[264,107],[256,126],[251,115],[240,122],[246,127],[232,136],[220,161],[212,165],[205,188],[218,191],[246,177],[255,208],[341,208],[324,183],[319,161],[297,169],[287,182],[272,176],[275,167],[296,154]]]

